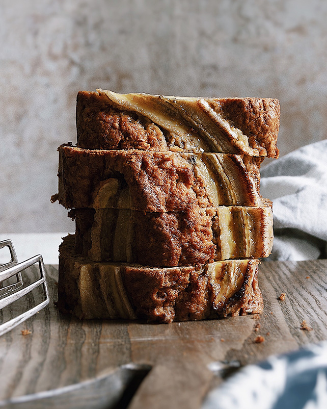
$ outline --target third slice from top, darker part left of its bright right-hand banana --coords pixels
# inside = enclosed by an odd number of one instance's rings
[[[213,212],[205,209],[166,213],[76,209],[75,213],[76,252],[93,261],[154,267],[214,261]]]

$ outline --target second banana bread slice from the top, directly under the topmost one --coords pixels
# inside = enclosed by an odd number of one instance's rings
[[[264,206],[261,158],[142,150],[59,147],[59,194],[67,209],[183,212],[217,206]]]

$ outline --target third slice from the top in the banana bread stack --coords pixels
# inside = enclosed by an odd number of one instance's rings
[[[166,213],[75,209],[73,216],[75,250],[92,261],[189,266],[268,257],[272,248],[268,207],[220,206]]]

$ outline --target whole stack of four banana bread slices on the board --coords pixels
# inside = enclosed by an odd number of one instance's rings
[[[260,313],[272,247],[259,193],[277,158],[279,101],[111,91],[77,95],[77,145],[59,147],[58,199],[75,219],[59,308],[79,318],[200,320]]]

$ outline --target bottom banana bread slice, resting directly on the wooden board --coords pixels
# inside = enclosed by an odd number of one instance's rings
[[[165,322],[257,314],[259,260],[154,268],[92,262],[75,253],[74,236],[59,256],[59,309],[80,319]]]

